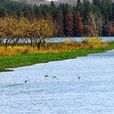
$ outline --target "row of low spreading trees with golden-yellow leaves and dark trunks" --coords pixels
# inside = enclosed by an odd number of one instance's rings
[[[28,20],[27,18],[5,17],[0,19],[0,43],[16,45],[31,41],[31,45],[40,49],[45,40],[53,36],[54,23],[49,19]]]

